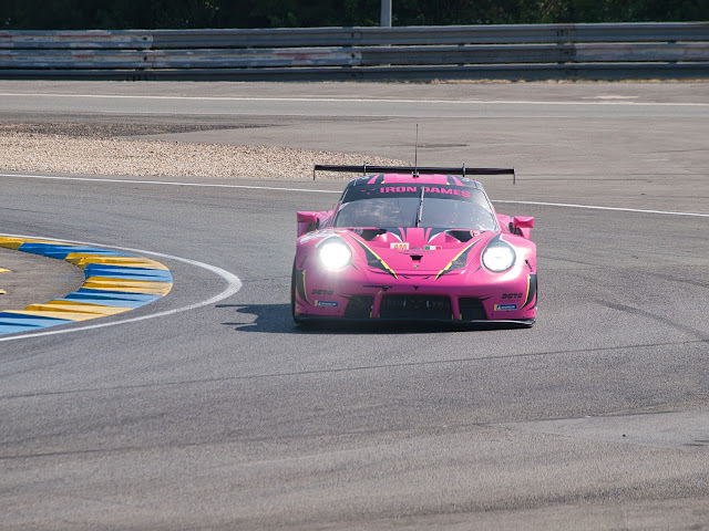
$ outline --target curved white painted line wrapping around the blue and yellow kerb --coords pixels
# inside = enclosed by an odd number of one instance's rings
[[[229,296],[232,296],[234,293],[236,293],[237,291],[239,291],[242,289],[242,281],[239,280],[239,278],[234,274],[230,273],[222,268],[217,268],[216,266],[210,266],[208,263],[204,263],[204,262],[198,262],[196,260],[189,260],[187,258],[181,258],[181,257],[173,257],[171,254],[163,254],[162,252],[154,252],[154,251],[146,251],[143,249],[131,249],[127,247],[115,247],[115,246],[107,246],[105,243],[92,243],[92,242],[86,242],[86,241],[74,241],[74,240],[60,240],[56,238],[44,238],[44,237],[38,237],[38,236],[24,236],[24,235],[0,235],[0,236],[6,236],[9,238],[31,238],[31,239],[38,239],[38,240],[52,240],[52,241],[62,241],[62,242],[66,242],[66,243],[79,243],[82,246],[93,246],[93,247],[105,247],[105,248],[110,248],[110,249],[120,249],[122,251],[130,251],[130,252],[135,252],[135,253],[140,253],[140,254],[152,254],[154,257],[161,257],[161,258],[166,258],[169,260],[177,260],[184,263],[187,263],[189,266],[195,266],[197,268],[202,268],[202,269],[206,269],[207,271],[212,271],[213,273],[222,277],[222,279],[224,279],[227,283],[227,287],[224,291],[222,291],[220,293],[214,295],[210,299],[207,299],[206,301],[202,301],[202,302],[195,302],[194,304],[189,304],[187,306],[181,306],[181,308],[175,308],[173,310],[166,310],[164,312],[157,312],[157,313],[152,313],[150,315],[142,315],[140,317],[133,317],[133,319],[124,319],[121,321],[113,321],[113,322],[109,322],[109,323],[97,323],[97,324],[91,324],[88,326],[79,326],[75,329],[56,329],[56,330],[49,330],[47,332],[31,332],[31,333],[23,333],[22,335],[11,335],[8,337],[0,337],[0,343],[6,342],[6,341],[17,341],[17,340],[27,340],[30,337],[41,337],[44,335],[55,335],[55,334],[70,334],[73,332],[82,332],[85,330],[95,330],[95,329],[103,329],[105,326],[117,326],[120,324],[127,324],[127,323],[137,323],[138,321],[146,321],[148,319],[156,319],[156,317],[164,317],[166,315],[173,315],[175,313],[182,313],[182,312],[187,312],[189,310],[196,310],[197,308],[202,308],[202,306],[207,306],[209,304],[215,304],[219,301],[223,301],[224,299],[227,299]],[[145,308],[145,306],[144,306]]]

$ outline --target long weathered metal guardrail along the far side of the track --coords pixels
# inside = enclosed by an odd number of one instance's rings
[[[0,77],[709,77],[709,22],[0,32]]]

